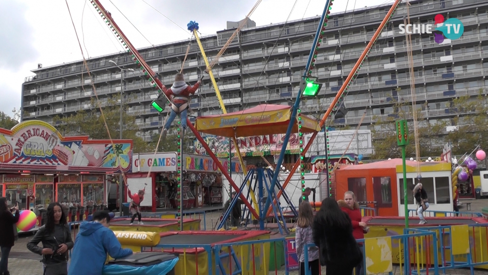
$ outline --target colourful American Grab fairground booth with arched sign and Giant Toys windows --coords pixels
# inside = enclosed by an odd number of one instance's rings
[[[38,226],[51,202],[59,202],[68,221],[79,221],[107,203],[106,174],[132,167],[132,141],[63,137],[38,120],[11,130],[0,128],[0,196],[9,205],[38,215]],[[115,147],[115,148],[114,148]]]

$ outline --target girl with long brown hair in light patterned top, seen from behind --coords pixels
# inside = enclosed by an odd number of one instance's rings
[[[312,243],[313,212],[308,202],[301,203],[298,207],[298,219],[295,234],[295,247],[300,261],[299,275],[305,275],[304,246]],[[317,247],[308,248],[308,269],[312,275],[320,275],[319,250]]]

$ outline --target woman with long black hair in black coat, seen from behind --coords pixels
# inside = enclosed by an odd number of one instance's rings
[[[351,219],[332,198],[322,201],[312,224],[312,238],[319,247],[320,264],[325,265],[326,274],[351,275],[363,259],[352,235]]]

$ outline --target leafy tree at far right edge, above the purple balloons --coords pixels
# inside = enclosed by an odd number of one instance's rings
[[[453,155],[469,154],[478,145],[488,149],[488,106],[482,92],[483,89],[476,98],[464,96],[453,100],[451,110],[460,113],[453,119],[456,129],[446,138],[451,143]]]

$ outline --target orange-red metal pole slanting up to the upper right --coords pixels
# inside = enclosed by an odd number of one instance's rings
[[[344,91],[346,90],[346,88],[349,87],[351,81],[353,81],[353,78],[355,79],[357,77],[357,74],[358,74],[358,71],[359,71],[359,67],[360,65],[363,63],[363,61],[366,59],[367,57],[367,54],[369,53],[369,51],[371,50],[371,47],[373,46],[373,44],[376,42],[376,40],[378,39],[378,36],[380,35],[380,33],[383,31],[383,28],[385,27],[386,23],[389,21],[391,15],[393,14],[394,10],[397,8],[398,4],[400,3],[401,0],[395,0],[395,2],[393,3],[393,5],[391,6],[390,10],[388,11],[388,13],[386,14],[385,18],[383,19],[383,21],[381,21],[381,24],[380,24],[380,27],[376,30],[376,32],[374,33],[373,37],[371,38],[371,40],[369,41],[369,43],[367,44],[365,50],[363,51],[363,54],[361,54],[361,57],[358,59],[358,61],[356,62],[356,64],[354,65],[354,67],[352,68],[351,72],[349,73],[349,75],[347,76],[346,78],[346,81],[344,82],[344,84],[341,86],[341,89],[337,92],[337,95],[335,96],[334,100],[332,101],[332,103],[330,103],[330,106],[328,107],[327,111],[325,112],[324,116],[322,117],[322,119],[320,120],[320,127],[323,127],[324,124],[325,124],[325,120],[327,120],[328,116],[330,115],[330,113],[332,112],[332,109],[334,108],[334,106],[337,104],[337,102],[339,101],[339,99],[341,98],[342,94],[344,93]],[[306,144],[303,152],[301,153],[302,156],[305,156],[305,153],[307,152],[308,148],[310,148],[313,140],[315,139],[315,137],[317,136],[317,132],[314,132],[313,135],[310,137],[310,140],[308,141],[308,143]],[[285,190],[286,186],[288,185],[289,181],[291,180],[291,177],[293,176],[293,173],[295,173],[296,169],[298,168],[298,166],[300,165],[300,159],[295,163],[295,165],[293,165],[293,168],[290,170],[290,173],[288,175],[288,177],[286,178],[285,182],[283,183],[283,188],[282,190]],[[278,192],[278,194],[276,195],[276,199],[273,201],[273,204],[276,203],[276,200],[277,199],[280,199],[280,196],[282,194],[282,190],[280,190]],[[271,207],[268,209],[268,212],[266,214],[269,215],[271,213],[272,209]]]

